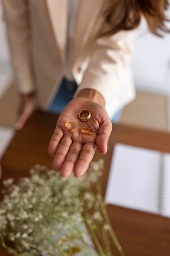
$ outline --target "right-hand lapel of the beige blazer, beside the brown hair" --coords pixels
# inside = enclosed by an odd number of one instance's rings
[[[104,6],[104,0],[80,0],[75,34],[75,55],[86,45],[91,30]],[[76,57],[75,56],[75,57]]]

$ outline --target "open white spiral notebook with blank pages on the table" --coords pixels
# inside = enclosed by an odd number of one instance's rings
[[[170,153],[116,144],[105,201],[170,217]]]

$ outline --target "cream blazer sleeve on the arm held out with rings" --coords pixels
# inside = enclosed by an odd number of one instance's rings
[[[113,99],[130,66],[135,31],[119,31],[95,41],[75,97],[79,91],[89,88],[103,95],[105,105]]]

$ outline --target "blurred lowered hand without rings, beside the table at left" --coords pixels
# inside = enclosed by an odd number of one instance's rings
[[[15,129],[20,130],[31,116],[34,110],[33,94],[21,95],[18,120]]]

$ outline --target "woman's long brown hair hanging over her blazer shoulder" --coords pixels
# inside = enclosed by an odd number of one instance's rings
[[[165,25],[168,21],[165,13],[168,5],[168,0],[112,0],[109,9],[104,13],[106,23],[110,27],[104,34],[135,29],[142,16],[153,34],[161,36],[160,31],[170,32]]]

